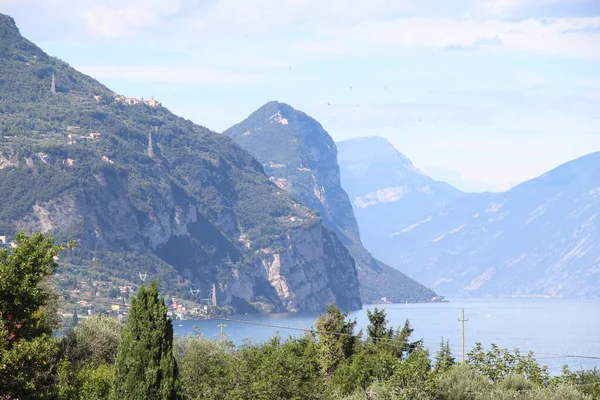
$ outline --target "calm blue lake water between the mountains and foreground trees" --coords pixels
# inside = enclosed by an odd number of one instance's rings
[[[357,320],[357,332],[368,324],[365,306],[350,314]],[[486,348],[492,343],[502,348],[531,350],[540,363],[548,365],[552,374],[560,374],[561,366],[572,369],[600,367],[600,359],[564,357],[564,355],[600,357],[600,300],[566,299],[450,299],[449,303],[382,304],[394,327],[408,318],[414,328],[413,340],[423,339],[432,356],[442,337],[460,361],[461,309],[465,309],[465,348],[476,342]],[[252,314],[228,317],[246,323],[219,320],[175,321],[175,334],[193,334],[197,329],[209,338],[218,338],[219,324],[225,324],[227,338],[235,344],[244,339],[263,342],[279,332],[280,336],[299,336],[314,325],[317,313]],[[265,327],[250,324],[273,325]],[[181,326],[179,326],[181,325]],[[561,356],[556,356],[560,354]]]

